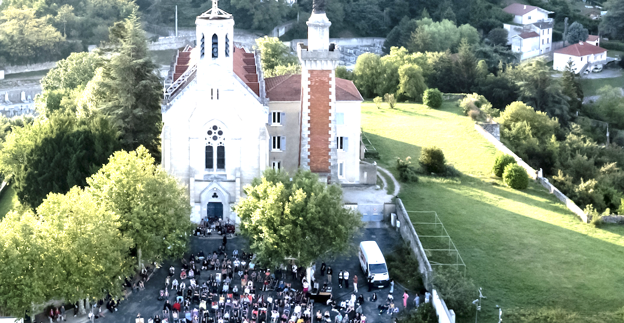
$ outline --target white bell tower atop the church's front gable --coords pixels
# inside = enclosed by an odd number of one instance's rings
[[[234,18],[217,4],[218,0],[212,0],[212,8],[195,19],[197,79],[202,83],[209,83],[217,73],[233,73]]]

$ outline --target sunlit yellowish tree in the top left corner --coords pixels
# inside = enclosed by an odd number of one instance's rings
[[[36,17],[34,9],[9,7],[1,13],[0,53],[13,63],[49,58],[65,40],[47,17]]]

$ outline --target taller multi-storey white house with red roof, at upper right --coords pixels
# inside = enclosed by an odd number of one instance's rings
[[[514,3],[503,11],[514,15],[513,24],[504,24],[512,51],[520,53],[520,59],[528,59],[552,50],[552,11],[527,4]]]

